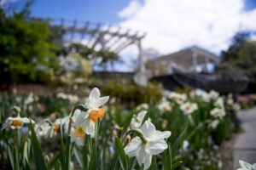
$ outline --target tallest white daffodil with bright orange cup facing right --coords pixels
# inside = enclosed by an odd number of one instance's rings
[[[90,92],[89,99],[86,101],[85,106],[88,111],[80,111],[79,116],[76,117],[73,124],[74,128],[79,128],[81,125],[84,128],[86,134],[94,135],[95,123],[98,118],[102,121],[105,111],[101,107],[108,102],[109,96],[100,98],[100,90],[93,88]]]

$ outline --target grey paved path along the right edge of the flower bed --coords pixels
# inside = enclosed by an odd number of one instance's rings
[[[233,148],[234,170],[240,167],[239,160],[256,162],[256,107],[241,111],[239,118],[244,132],[237,137]]]

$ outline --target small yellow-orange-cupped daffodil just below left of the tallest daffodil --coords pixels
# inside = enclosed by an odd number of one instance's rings
[[[75,142],[79,146],[84,145],[84,138],[85,138],[85,132],[84,128],[80,126],[79,128],[71,128],[71,133],[70,133],[70,141],[73,143]]]

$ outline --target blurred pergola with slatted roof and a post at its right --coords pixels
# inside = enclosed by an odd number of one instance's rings
[[[144,71],[141,41],[146,36],[144,32],[132,31],[119,26],[103,25],[101,23],[83,22],[78,20],[40,19],[48,20],[65,35],[67,42],[83,43],[89,48],[108,50],[116,54],[132,44],[139,50],[140,70]]]

